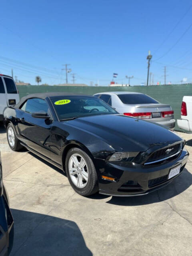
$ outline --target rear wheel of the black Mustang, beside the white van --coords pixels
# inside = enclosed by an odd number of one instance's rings
[[[9,123],[7,126],[7,140],[8,140],[8,144],[9,144],[10,148],[13,151],[18,151],[23,148],[23,146],[21,146],[21,144],[20,144],[20,141],[16,137],[14,127],[11,123]]]

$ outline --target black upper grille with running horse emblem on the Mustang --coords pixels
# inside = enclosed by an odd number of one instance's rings
[[[179,148],[180,148],[180,144],[176,144],[168,148],[160,149],[152,153],[152,155],[148,158],[147,162],[152,162],[152,161],[160,160],[162,158],[166,158],[168,156],[172,156],[173,154],[178,152]]]

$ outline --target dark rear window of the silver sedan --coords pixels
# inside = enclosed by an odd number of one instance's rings
[[[124,104],[153,104],[159,103],[146,94],[118,94]]]

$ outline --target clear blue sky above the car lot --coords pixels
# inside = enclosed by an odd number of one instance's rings
[[[154,83],[192,82],[190,0],[10,0],[1,3],[0,72],[35,84],[146,82],[148,50]],[[190,26],[191,25],[191,26]],[[72,82],[68,75],[68,82]]]

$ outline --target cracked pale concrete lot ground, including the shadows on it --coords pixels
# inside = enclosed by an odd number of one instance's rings
[[[4,184],[15,221],[15,256],[192,255],[192,134],[180,177],[146,196],[79,196],[66,176],[0,128]]]

